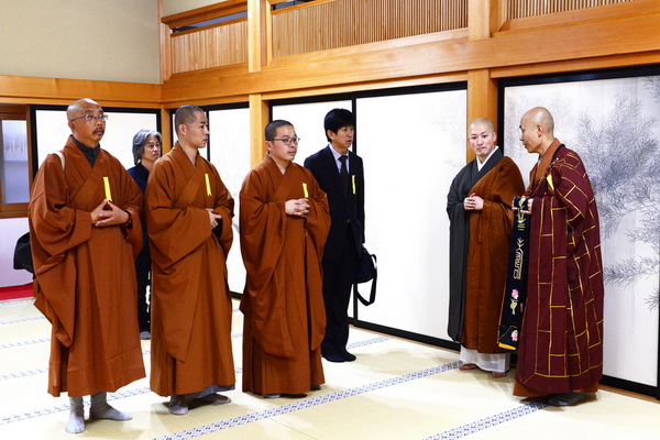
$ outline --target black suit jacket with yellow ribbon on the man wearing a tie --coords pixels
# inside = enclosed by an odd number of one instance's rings
[[[330,232],[323,250],[323,260],[339,257],[346,241],[346,222],[350,221],[353,230],[355,251],[362,253],[364,243],[364,168],[362,158],[349,151],[349,173],[351,185],[349,194],[344,195],[337,162],[328,145],[305,160],[308,168],[319,183],[321,189],[328,195],[330,205]]]

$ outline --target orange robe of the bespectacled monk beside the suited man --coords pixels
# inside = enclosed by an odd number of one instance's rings
[[[307,195],[305,194],[307,189]],[[306,218],[285,202],[304,198]],[[248,272],[241,300],[243,391],[302,394],[324,382],[321,256],[330,230],[328,198],[309,170],[282,174],[266,155],[241,188],[241,252]]]

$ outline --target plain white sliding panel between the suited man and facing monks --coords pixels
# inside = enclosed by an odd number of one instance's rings
[[[378,257],[377,300],[359,317],[449,340],[447,194],[465,165],[466,92],[363,98],[356,111],[366,246]]]

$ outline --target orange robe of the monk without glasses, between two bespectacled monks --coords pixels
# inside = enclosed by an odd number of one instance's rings
[[[216,167],[180,145],[158,160],[145,193],[152,254],[151,389],[161,396],[235,383],[227,255],[233,199]],[[222,216],[211,231],[207,208]]]

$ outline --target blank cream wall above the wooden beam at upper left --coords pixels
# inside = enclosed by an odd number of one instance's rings
[[[160,84],[157,0],[2,0],[0,75]]]

